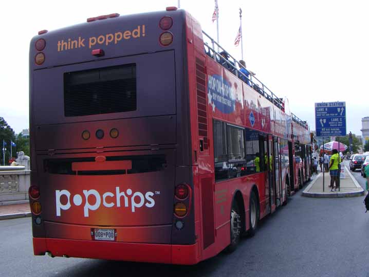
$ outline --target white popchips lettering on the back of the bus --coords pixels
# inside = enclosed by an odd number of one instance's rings
[[[119,187],[115,188],[116,194],[113,192],[105,192],[102,196],[97,190],[83,190],[83,195],[85,198],[85,205],[83,207],[83,213],[85,217],[89,216],[89,211],[96,211],[101,206],[101,200],[102,205],[106,208],[112,208],[115,205],[117,207],[130,207],[131,210],[134,213],[137,208],[141,208],[143,205],[145,205],[147,208],[152,208],[155,206],[155,200],[152,198],[154,196],[154,193],[149,191],[145,194],[141,192],[135,192],[131,189],[127,189],[125,192],[120,191]],[[156,191],[155,194],[160,194],[159,191]],[[61,197],[65,195],[67,197],[66,204],[62,204]],[[55,197],[56,197],[56,208],[57,208],[57,216],[61,216],[62,210],[68,210],[71,207],[71,201],[70,201],[70,192],[68,190],[57,190],[55,191]],[[90,204],[88,201],[88,197],[93,196],[95,198],[95,204]],[[123,198],[122,198],[123,197]],[[90,197],[91,198],[91,197]],[[121,202],[121,200],[123,200]],[[73,196],[72,203],[76,206],[82,205],[82,196],[80,194],[76,194]]]

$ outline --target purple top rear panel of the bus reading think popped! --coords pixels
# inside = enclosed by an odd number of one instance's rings
[[[171,25],[161,24],[165,16],[171,17]],[[30,65],[39,69],[160,51],[163,47],[181,49],[184,24],[184,11],[167,11],[118,16],[48,31],[31,40]]]

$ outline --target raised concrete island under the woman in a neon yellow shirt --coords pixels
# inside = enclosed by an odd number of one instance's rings
[[[330,184],[329,172],[324,173],[324,192],[323,192],[323,173],[313,180],[309,186],[303,191],[302,195],[306,197],[353,197],[364,195],[364,190],[357,182],[355,177],[345,166],[345,178],[340,179],[340,191],[331,192],[328,187]]]

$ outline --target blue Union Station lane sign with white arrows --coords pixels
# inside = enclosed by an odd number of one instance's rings
[[[317,137],[346,136],[346,102],[315,103]]]

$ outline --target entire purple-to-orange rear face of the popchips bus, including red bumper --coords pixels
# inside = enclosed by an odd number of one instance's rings
[[[35,255],[196,262],[185,30],[168,10],[32,39]]]

